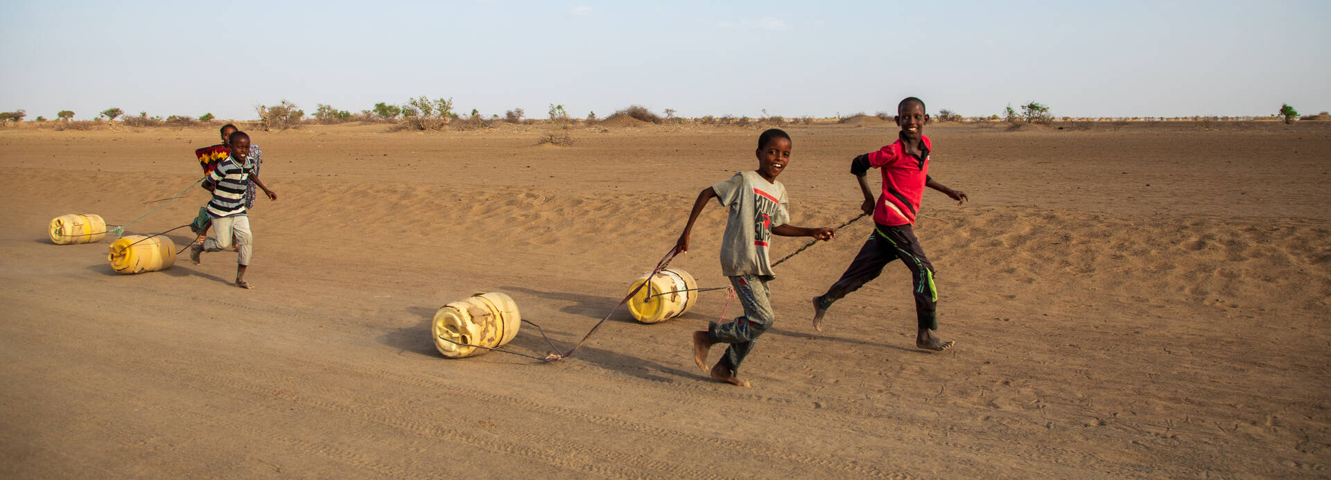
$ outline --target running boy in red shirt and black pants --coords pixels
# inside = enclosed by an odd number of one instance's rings
[[[888,262],[900,258],[910,269],[914,287],[918,320],[916,346],[944,351],[950,348],[953,342],[933,334],[938,330],[936,314],[938,291],[933,286],[933,265],[925,258],[924,249],[920,247],[920,241],[910,226],[914,225],[916,213],[920,211],[925,186],[952,197],[957,205],[969,198],[965,191],[949,189],[929,178],[932,144],[929,137],[924,136],[924,126],[929,122],[924,101],[906,97],[897,104],[896,122],[901,126],[896,142],[851,161],[851,173],[860,181],[860,191],[864,193],[864,205],[860,209],[864,213],[873,213],[874,229],[855,261],[841,274],[841,279],[836,281],[825,294],[813,298],[813,327],[823,331],[823,315],[832,302],[877,278]],[[877,202],[866,180],[869,168],[882,170],[882,194]]]

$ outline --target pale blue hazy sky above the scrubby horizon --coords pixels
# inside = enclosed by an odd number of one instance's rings
[[[1331,1],[13,1],[0,110],[1247,116],[1331,109]]]

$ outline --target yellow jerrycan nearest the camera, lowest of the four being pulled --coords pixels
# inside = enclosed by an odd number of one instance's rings
[[[434,314],[430,332],[434,347],[447,358],[475,356],[499,348],[518,336],[522,314],[512,298],[500,293],[475,294],[445,304]]]

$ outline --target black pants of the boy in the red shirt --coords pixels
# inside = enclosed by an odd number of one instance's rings
[[[882,267],[894,259],[901,259],[910,269],[914,289],[916,318],[920,328],[938,330],[938,291],[933,286],[933,265],[924,255],[920,239],[909,225],[877,225],[864,247],[851,261],[831,289],[819,297],[819,306],[827,308],[852,291],[860,290],[869,281],[878,278]]]

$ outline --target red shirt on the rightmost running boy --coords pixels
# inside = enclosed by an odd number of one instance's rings
[[[906,153],[906,144],[897,138],[865,157],[869,166],[882,170],[882,194],[873,210],[873,221],[880,225],[914,225],[929,178],[929,137],[920,137],[921,157]]]

